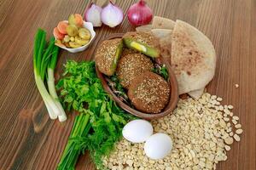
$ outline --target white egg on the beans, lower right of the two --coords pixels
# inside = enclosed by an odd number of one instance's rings
[[[155,133],[144,144],[146,156],[157,160],[167,156],[172,150],[172,139],[165,133]]]

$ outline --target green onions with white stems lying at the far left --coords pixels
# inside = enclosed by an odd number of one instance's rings
[[[48,67],[51,67],[49,65],[55,65],[57,53],[58,48],[55,46],[54,37],[51,37],[49,44],[46,44],[46,32],[42,29],[38,29],[35,37],[33,52],[34,76],[38,91],[44,100],[44,104],[46,105],[49,117],[51,119],[56,119],[58,116],[63,116],[63,109],[61,110],[62,106],[57,104],[55,99],[56,96],[53,96],[51,93],[49,94],[44,85],[46,70]],[[49,91],[53,91],[53,89],[49,88]]]

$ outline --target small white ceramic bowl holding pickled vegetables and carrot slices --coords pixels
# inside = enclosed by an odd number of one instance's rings
[[[64,21],[68,23],[67,20],[64,20]],[[93,30],[93,26],[90,22],[84,21],[83,27],[87,28],[90,31],[90,41],[87,44],[85,44],[84,46],[81,46],[79,48],[66,48],[66,47],[61,47],[61,46],[59,46],[59,47],[67,50],[70,53],[78,53],[78,52],[84,51],[86,48],[88,48],[90,43],[94,40],[94,38],[96,36],[96,32]],[[55,37],[55,39],[57,39],[57,38]]]

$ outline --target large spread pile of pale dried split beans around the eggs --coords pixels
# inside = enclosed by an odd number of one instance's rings
[[[230,106],[216,106],[218,100],[217,96],[211,97],[207,93],[197,101],[180,99],[172,114],[151,122],[154,133],[166,133],[173,140],[172,153],[164,159],[152,161],[145,156],[143,144],[131,144],[122,139],[116,144],[116,150],[105,158],[104,165],[108,167],[112,158],[111,165],[117,169],[216,169],[218,161],[228,159],[226,150],[231,149],[229,144],[234,143],[234,139],[240,140],[237,133],[234,135],[236,131],[232,132],[230,122],[234,119],[229,117],[233,116]],[[239,130],[241,124],[235,127]]]

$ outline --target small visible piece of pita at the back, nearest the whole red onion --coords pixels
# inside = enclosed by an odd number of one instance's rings
[[[175,26],[175,22],[173,20],[169,20],[160,16],[154,16],[152,21],[153,29],[168,29],[173,30]]]

